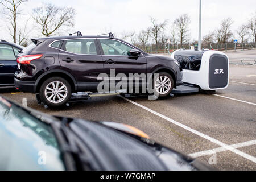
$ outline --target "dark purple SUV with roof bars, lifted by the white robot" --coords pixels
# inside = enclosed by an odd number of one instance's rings
[[[168,96],[173,88],[182,84],[182,69],[176,60],[150,55],[113,38],[112,34],[31,40],[33,43],[17,57],[15,87],[22,92],[39,93],[40,99],[49,106],[64,105],[71,93],[97,92],[102,81],[98,75],[110,75],[112,69],[115,76],[158,73],[152,85],[159,97]]]

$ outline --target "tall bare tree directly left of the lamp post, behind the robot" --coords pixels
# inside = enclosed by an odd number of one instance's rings
[[[188,40],[189,37],[189,24],[191,19],[188,14],[180,15],[179,18],[175,19],[174,24],[177,27],[178,35],[180,38],[181,47],[184,42]]]

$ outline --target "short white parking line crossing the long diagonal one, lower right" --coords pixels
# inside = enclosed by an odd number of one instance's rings
[[[254,144],[256,144],[256,140],[251,140],[251,141],[242,142],[242,143],[236,143],[236,144],[232,144],[230,146],[233,148],[241,148],[241,147],[252,146]],[[191,156],[192,158],[198,158],[200,156],[212,155],[212,154],[216,154],[217,152],[224,152],[224,151],[227,151],[226,148],[218,147],[218,148],[213,148],[211,150],[195,152],[193,154],[189,154],[189,156]]]

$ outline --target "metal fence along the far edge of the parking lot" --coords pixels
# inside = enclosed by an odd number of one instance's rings
[[[146,46],[136,45],[137,47],[141,48],[143,51],[147,53],[172,53],[177,49],[184,48],[184,49],[191,49],[193,44],[147,44]],[[255,43],[212,43],[212,44],[201,44],[202,49],[213,49],[216,51],[230,51],[230,50],[241,50],[241,49],[254,49],[256,48]]]

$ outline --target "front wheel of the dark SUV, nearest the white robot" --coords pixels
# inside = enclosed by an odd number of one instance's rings
[[[153,80],[154,93],[158,93],[158,97],[167,97],[174,88],[174,78],[169,73],[160,72],[158,78]]]

